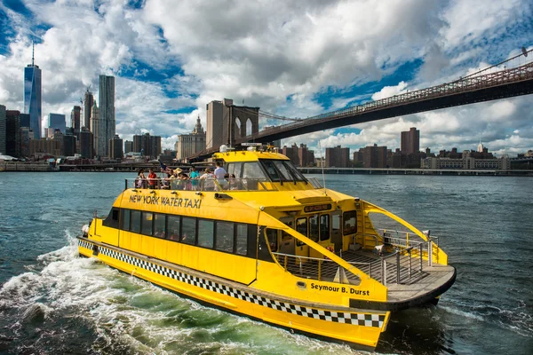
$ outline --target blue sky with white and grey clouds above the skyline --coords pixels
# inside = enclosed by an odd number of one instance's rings
[[[0,104],[22,110],[35,41],[43,115],[69,117],[89,85],[98,99],[100,74],[115,75],[116,132],[148,131],[170,148],[198,115],[205,127],[213,99],[305,118],[447,83],[533,48],[532,35],[530,0],[1,0]],[[283,143],[394,149],[410,127],[432,151],[481,139],[515,155],[533,149],[533,96]]]

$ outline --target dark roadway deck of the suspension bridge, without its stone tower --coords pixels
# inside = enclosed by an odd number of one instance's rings
[[[251,136],[235,139],[235,146],[245,142],[267,143],[318,130],[383,120],[406,114],[416,114],[446,107],[473,104],[494,99],[505,99],[533,93],[533,62],[476,76],[466,76],[452,83],[410,91],[390,98],[371,101],[364,105],[320,114],[262,130]],[[219,147],[191,157],[202,159],[218,152]]]

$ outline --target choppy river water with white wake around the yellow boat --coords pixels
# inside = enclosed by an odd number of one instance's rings
[[[122,173],[0,174],[0,353],[350,354],[196,304],[79,258]],[[437,307],[398,313],[378,353],[532,354],[533,211],[527,177],[326,176],[432,234],[457,267]]]

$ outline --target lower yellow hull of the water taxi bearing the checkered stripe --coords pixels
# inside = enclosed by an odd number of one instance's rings
[[[359,310],[287,299],[243,284],[211,277],[177,264],[78,237],[80,255],[228,312],[276,327],[358,347],[374,348],[390,312]]]

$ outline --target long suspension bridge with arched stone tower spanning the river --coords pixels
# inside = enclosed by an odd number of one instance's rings
[[[442,83],[426,89],[407,91],[386,99],[378,99],[362,105],[349,106],[326,114],[305,119],[283,117],[246,106],[228,106],[222,144],[240,146],[247,142],[268,143],[318,130],[328,130],[362,122],[438,110],[496,99],[505,99],[533,93],[533,51],[522,48],[521,54],[505,59],[470,75],[459,77],[450,83]],[[251,134],[245,135],[246,127],[238,116],[249,114],[254,122]],[[259,131],[259,119],[275,119],[289,122],[268,130]],[[191,156],[203,158],[219,151],[220,145]]]

